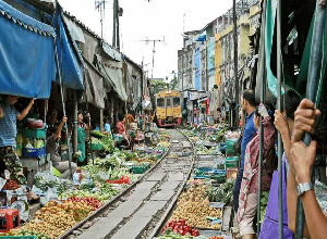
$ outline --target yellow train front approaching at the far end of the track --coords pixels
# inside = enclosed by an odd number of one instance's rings
[[[157,121],[159,127],[182,124],[182,93],[177,90],[164,90],[156,95]]]

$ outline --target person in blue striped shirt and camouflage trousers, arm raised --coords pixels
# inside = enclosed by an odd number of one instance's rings
[[[0,102],[0,168],[1,176],[4,169],[10,173],[10,178],[20,185],[26,185],[26,177],[23,174],[23,166],[20,158],[16,154],[16,120],[22,121],[34,104],[32,99],[28,105],[20,113],[14,104],[17,102],[19,97],[7,96]],[[28,192],[28,199],[37,199],[32,191]]]

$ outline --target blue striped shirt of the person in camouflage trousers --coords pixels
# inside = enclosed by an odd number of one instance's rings
[[[0,118],[0,147],[16,147],[16,117],[20,112],[9,103],[2,103],[3,117]]]

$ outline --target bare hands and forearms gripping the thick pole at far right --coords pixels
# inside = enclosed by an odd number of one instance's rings
[[[311,181],[311,167],[316,154],[316,142],[310,147],[302,142],[304,131],[313,133],[315,120],[320,112],[315,109],[313,102],[304,99],[295,112],[293,144],[291,146],[290,171],[287,184],[289,228],[295,230],[298,192],[296,184]],[[304,225],[304,237],[325,238],[327,234],[327,221],[322,212],[313,190],[302,196],[304,213],[307,221]],[[324,230],[317,229],[324,228]]]

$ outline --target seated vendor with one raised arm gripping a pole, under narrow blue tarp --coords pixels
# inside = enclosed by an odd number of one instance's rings
[[[50,154],[50,159],[52,162],[52,166],[61,173],[61,178],[70,177],[70,165],[68,161],[61,161],[61,156],[59,154],[59,141],[61,139],[61,130],[63,125],[66,123],[66,117],[63,116],[61,123],[57,127],[56,130],[52,130],[52,135],[47,139],[47,154]],[[75,172],[77,165],[71,162],[72,171]]]

